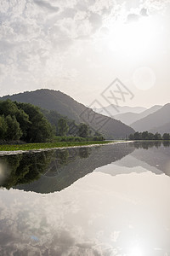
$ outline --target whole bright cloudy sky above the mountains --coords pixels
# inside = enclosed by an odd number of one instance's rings
[[[169,0],[1,0],[0,96],[149,108],[170,102],[169,67]]]

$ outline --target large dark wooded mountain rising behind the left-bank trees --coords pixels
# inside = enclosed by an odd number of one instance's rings
[[[121,121],[95,113],[91,108],[85,107],[59,90],[26,91],[0,98],[0,100],[6,99],[27,102],[40,108],[55,110],[69,119],[74,119],[77,123],[88,124],[94,131],[104,134],[106,139],[125,138],[134,132],[133,128],[123,124]]]

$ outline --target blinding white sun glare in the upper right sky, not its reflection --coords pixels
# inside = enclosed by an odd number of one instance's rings
[[[107,44],[117,54],[135,58],[147,55],[156,44],[156,22],[142,17],[128,23],[116,22],[110,29]]]

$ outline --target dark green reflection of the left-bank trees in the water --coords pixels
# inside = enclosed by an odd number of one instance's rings
[[[88,157],[90,151],[82,148],[81,156]],[[58,149],[37,154],[18,154],[3,156],[0,162],[6,166],[6,179],[2,185],[6,189],[20,184],[32,183],[43,176],[56,176],[63,168],[76,160],[79,151],[75,149]]]

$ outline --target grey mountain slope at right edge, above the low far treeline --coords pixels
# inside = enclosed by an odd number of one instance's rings
[[[135,131],[150,131],[152,129],[156,131],[160,125],[166,125],[170,122],[169,113],[170,103],[166,104],[156,112],[150,113],[143,119],[134,122],[131,127],[133,127]]]

